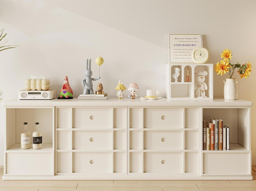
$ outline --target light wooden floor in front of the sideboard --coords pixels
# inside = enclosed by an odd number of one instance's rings
[[[254,166],[255,167],[255,166]],[[254,168],[253,167],[253,168]],[[256,167],[254,168],[256,169]],[[253,180],[2,180],[0,190],[256,190]]]

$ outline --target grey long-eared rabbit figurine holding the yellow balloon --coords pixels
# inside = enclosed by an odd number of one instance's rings
[[[86,78],[82,81],[82,85],[84,86],[84,93],[83,94],[93,94],[93,89],[92,89],[92,80],[98,80],[100,77],[97,78],[91,78],[92,76],[92,71],[91,71],[91,59],[87,59],[87,64],[86,64],[86,70],[85,70],[85,76]]]

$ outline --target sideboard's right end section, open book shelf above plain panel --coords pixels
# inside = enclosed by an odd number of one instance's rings
[[[251,176],[251,109],[230,107],[202,110],[206,121],[219,118],[223,120],[223,125],[230,128],[230,151],[202,151],[202,175]]]

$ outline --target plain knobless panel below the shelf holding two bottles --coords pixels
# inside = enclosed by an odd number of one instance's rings
[[[52,153],[6,153],[6,174],[53,175]]]

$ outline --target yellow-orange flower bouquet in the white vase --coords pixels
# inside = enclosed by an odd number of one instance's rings
[[[229,78],[232,78],[235,70],[237,69],[237,72],[239,73],[240,78],[245,77],[247,79],[247,76],[249,76],[250,72],[252,71],[252,64],[245,63],[245,64],[239,64],[238,62],[236,64],[231,64],[231,57],[232,57],[232,51],[230,51],[228,48],[224,49],[224,51],[220,54],[221,60],[220,62],[217,62],[217,64],[214,67],[214,71],[216,71],[218,74],[229,73]]]

